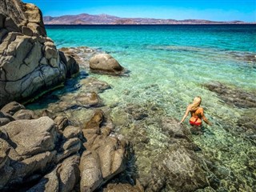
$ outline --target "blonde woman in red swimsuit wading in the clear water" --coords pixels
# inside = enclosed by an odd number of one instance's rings
[[[191,114],[190,125],[191,126],[201,126],[202,119],[208,125],[211,125],[211,123],[208,121],[206,116],[203,114],[203,109],[202,109],[202,107],[200,107],[201,102],[202,102],[201,97],[198,96],[198,97],[194,98],[194,102],[187,106],[186,112],[182,118],[181,123],[185,120],[185,118],[187,117],[187,115],[190,112],[190,114]]]

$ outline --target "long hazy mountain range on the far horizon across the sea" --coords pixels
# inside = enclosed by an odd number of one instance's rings
[[[47,25],[164,25],[164,24],[246,24],[242,21],[213,22],[202,19],[158,19],[158,18],[118,18],[108,14],[78,14],[60,17],[43,17]]]

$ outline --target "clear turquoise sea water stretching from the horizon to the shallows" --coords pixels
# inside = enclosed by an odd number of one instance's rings
[[[99,96],[111,106],[113,119],[126,119],[126,107],[138,105],[157,106],[161,113],[150,110],[156,119],[166,116],[180,120],[187,104],[200,95],[213,126],[206,126],[207,132],[194,135],[193,141],[219,167],[232,173],[233,178],[221,179],[223,189],[255,190],[256,137],[248,138],[246,130],[241,132],[238,126],[248,117],[255,122],[255,107],[234,106],[204,86],[220,82],[234,92],[255,95],[255,25],[46,26],[46,31],[58,48],[89,46],[103,50],[130,71],[128,77],[121,78],[87,72],[112,87]],[[116,131],[129,134],[136,123],[118,124]],[[148,148],[161,153],[166,135],[158,132],[157,123],[144,125],[149,132]],[[138,157],[138,164],[142,165],[145,157]]]

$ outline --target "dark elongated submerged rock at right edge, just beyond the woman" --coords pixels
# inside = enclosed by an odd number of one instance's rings
[[[218,97],[230,106],[241,108],[256,107],[256,94],[246,92],[245,90],[234,89],[223,85],[221,82],[210,82],[204,84],[208,90],[218,94]]]

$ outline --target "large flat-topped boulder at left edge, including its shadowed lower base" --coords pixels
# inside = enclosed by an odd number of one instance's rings
[[[0,189],[8,183],[21,184],[24,178],[46,171],[57,154],[57,136],[57,126],[48,117],[1,126]]]

